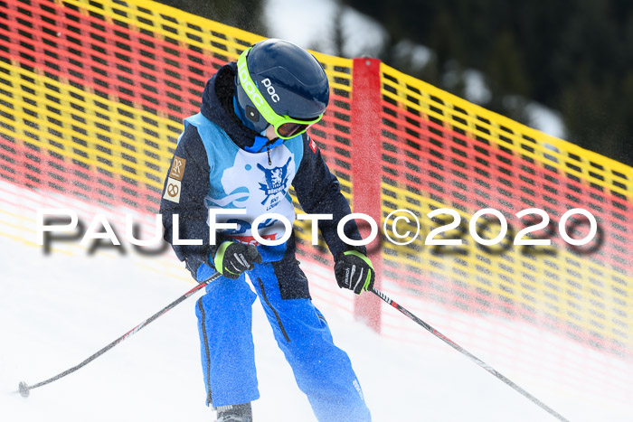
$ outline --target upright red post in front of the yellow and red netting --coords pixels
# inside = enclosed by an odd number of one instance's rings
[[[354,59],[352,79],[352,183],[354,212],[370,216],[381,228],[381,73],[378,59]],[[357,220],[365,239],[370,228]],[[383,257],[380,234],[367,245],[368,256],[376,270],[375,288],[381,287]],[[364,320],[376,332],[381,330],[381,300],[376,295],[364,293],[356,297],[354,316]]]

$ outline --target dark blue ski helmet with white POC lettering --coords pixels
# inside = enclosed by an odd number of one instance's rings
[[[270,38],[252,46],[246,57],[250,79],[280,116],[314,120],[326,111],[330,97],[326,71],[315,56],[292,42]],[[241,121],[261,133],[269,122],[235,75],[235,109]]]

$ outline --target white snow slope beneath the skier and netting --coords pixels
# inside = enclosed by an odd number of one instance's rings
[[[147,258],[132,252],[122,256],[109,249],[89,256],[86,249],[66,244],[45,256],[42,247],[33,246],[33,207],[24,205],[33,203],[24,201],[28,196],[33,200],[33,195],[0,183],[0,421],[213,420],[213,411],[204,405],[194,315],[195,300],[201,294],[80,370],[33,389],[28,399],[16,394],[19,381],[34,384],[73,367],[194,286],[171,252]],[[52,196],[42,198],[54,202]],[[10,199],[14,205],[7,205]],[[102,211],[85,204],[84,209]],[[351,294],[335,286],[329,270],[307,269],[315,304],[326,315],[335,342],[350,355],[373,420],[555,420],[392,308],[383,308],[391,324],[419,329],[412,335],[420,335],[433,346],[373,333],[354,322],[345,310]],[[414,305],[412,300],[404,296],[402,305]],[[261,393],[253,404],[255,420],[315,420],[260,303],[253,309]],[[438,314],[434,313],[433,324],[451,337],[442,330]],[[494,319],[472,319],[478,333],[498,330]],[[534,331],[520,325],[514,328]],[[564,342],[548,337],[548,347]],[[499,347],[512,350],[512,345],[504,343]],[[539,347],[534,344],[536,355]],[[534,360],[535,369],[538,365]],[[535,377],[505,375],[570,420],[633,419],[628,400],[582,397],[555,381],[539,379],[537,370],[534,373]]]

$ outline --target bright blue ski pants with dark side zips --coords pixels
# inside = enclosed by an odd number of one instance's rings
[[[371,420],[347,353],[335,346],[325,318],[309,297],[283,299],[270,263],[256,264],[247,274],[257,295],[243,274],[237,280],[219,277],[196,304],[207,405],[240,404],[260,397],[251,333],[251,306],[259,296],[279,348],[316,418]]]

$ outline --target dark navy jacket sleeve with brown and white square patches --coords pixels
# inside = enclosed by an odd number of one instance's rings
[[[160,202],[160,212],[163,215],[164,239],[172,243],[176,256],[186,260],[187,267],[194,272],[201,263],[209,263],[209,225],[207,224],[208,210],[204,205],[204,198],[209,192],[210,167],[203,141],[194,126],[186,127],[178,145],[175,157],[185,160],[184,172],[180,186],[180,199],[174,202],[165,199],[165,189],[172,171],[174,160],[169,166],[165,177],[163,197]],[[179,239],[202,239],[202,245],[174,245],[174,214],[179,215]],[[216,244],[222,242],[218,235]]]

